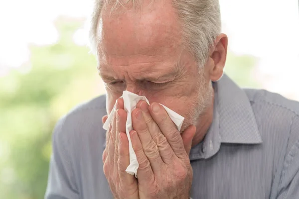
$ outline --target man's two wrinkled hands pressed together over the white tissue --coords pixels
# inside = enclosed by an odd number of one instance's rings
[[[188,153],[195,126],[180,135],[161,105],[152,103],[149,107],[145,101],[140,101],[132,112],[135,130],[130,132],[140,164],[137,180],[125,172],[130,160],[129,143],[124,133],[127,114],[123,103],[122,99],[117,100],[117,111],[108,129],[107,147],[103,153],[104,174],[114,198],[188,198],[192,182]],[[159,107],[157,112],[153,111],[154,106]],[[103,122],[106,119],[107,116]]]

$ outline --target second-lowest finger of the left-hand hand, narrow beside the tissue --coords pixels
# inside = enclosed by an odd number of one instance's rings
[[[119,154],[119,133],[126,132],[127,113],[124,109],[117,109],[116,111],[116,137],[114,144],[114,163],[117,166]]]

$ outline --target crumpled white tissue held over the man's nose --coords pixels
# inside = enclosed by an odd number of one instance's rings
[[[130,165],[126,169],[126,172],[131,174],[131,175],[135,174],[135,177],[137,178],[137,170],[138,170],[139,164],[138,164],[138,161],[137,161],[137,158],[136,158],[136,154],[133,150],[132,142],[131,142],[131,138],[130,138],[130,134],[129,134],[129,132],[132,130],[132,110],[134,110],[136,108],[137,103],[140,100],[145,100],[145,101],[148,102],[148,104],[149,104],[149,100],[145,96],[139,96],[139,95],[136,95],[136,94],[131,93],[129,91],[124,91],[122,98],[124,99],[125,110],[128,113],[127,114],[127,122],[126,122],[126,134],[127,134],[128,140],[129,140]],[[164,105],[162,105],[162,106],[164,107],[164,109],[168,113],[170,119],[176,125],[177,129],[180,130],[185,118],[183,116],[177,114],[173,110],[170,110],[166,106],[164,106]],[[113,109],[112,109],[110,115],[108,116],[105,124],[103,125],[103,128],[105,130],[108,130],[108,126],[109,126],[109,123],[111,122],[111,120],[113,118],[114,111],[115,111],[115,106],[113,107]]]

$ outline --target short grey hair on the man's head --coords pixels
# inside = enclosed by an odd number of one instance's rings
[[[113,8],[140,0],[95,0],[91,16],[90,47],[97,52],[97,26],[101,10],[106,3],[113,3]],[[188,50],[200,66],[209,56],[210,47],[221,32],[219,0],[172,0],[181,22],[183,40]],[[113,9],[112,8],[112,9]]]

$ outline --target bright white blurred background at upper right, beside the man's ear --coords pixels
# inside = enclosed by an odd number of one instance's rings
[[[223,32],[236,54],[257,57],[263,89],[299,100],[298,0],[220,0]]]

